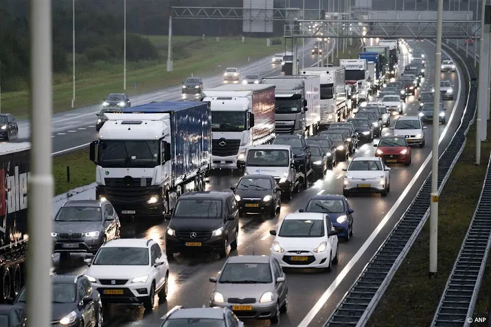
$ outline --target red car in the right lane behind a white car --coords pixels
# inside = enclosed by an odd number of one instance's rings
[[[377,147],[375,156],[384,162],[411,165],[411,147],[402,136],[384,136],[374,147]]]

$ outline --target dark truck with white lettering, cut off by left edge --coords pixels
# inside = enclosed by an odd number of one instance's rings
[[[0,145],[0,303],[11,302],[25,284],[29,162],[30,143]]]

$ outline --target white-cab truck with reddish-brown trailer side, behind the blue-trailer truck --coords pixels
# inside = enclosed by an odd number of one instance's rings
[[[274,85],[223,85],[203,95],[212,108],[212,168],[242,169],[251,145],[275,138]]]

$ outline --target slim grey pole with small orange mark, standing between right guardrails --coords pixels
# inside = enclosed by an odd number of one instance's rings
[[[437,49],[435,51],[435,94],[433,95],[433,154],[431,158],[431,203],[430,203],[430,278],[437,276],[438,267],[438,138],[440,74],[442,73],[442,25],[443,0],[438,0],[437,10]]]

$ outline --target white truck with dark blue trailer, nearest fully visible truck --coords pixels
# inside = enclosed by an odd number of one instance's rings
[[[212,167],[207,102],[165,101],[108,113],[90,145],[95,196],[120,218],[165,217],[187,191],[204,191]]]

